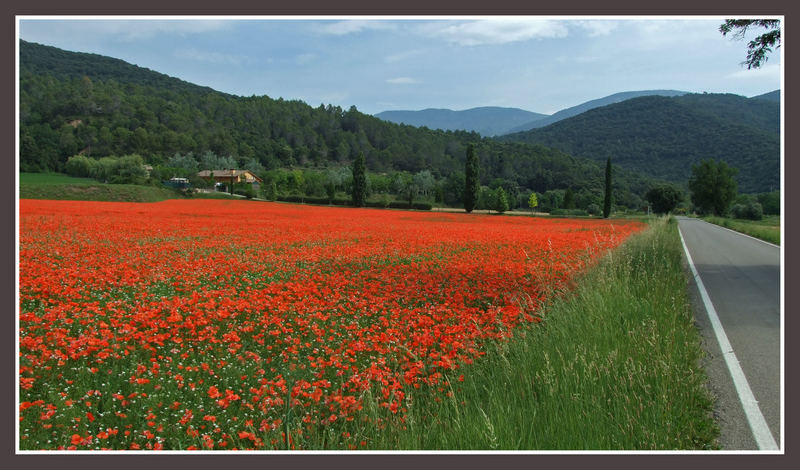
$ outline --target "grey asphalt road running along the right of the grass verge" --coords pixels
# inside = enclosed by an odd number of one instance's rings
[[[698,219],[679,217],[678,224],[758,408],[780,447],[780,248]],[[690,294],[708,352],[705,366],[717,398],[720,444],[730,450],[758,449],[695,282]]]

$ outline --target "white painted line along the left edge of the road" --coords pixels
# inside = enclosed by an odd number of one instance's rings
[[[753,391],[750,390],[750,384],[747,383],[747,378],[744,375],[742,367],[739,365],[739,360],[736,359],[736,354],[733,352],[733,347],[728,341],[728,335],[722,328],[722,323],[719,321],[717,311],[714,309],[714,304],[711,303],[711,298],[706,292],[703,281],[700,279],[700,274],[692,261],[692,255],[689,254],[689,247],[686,246],[686,241],[683,239],[683,233],[678,227],[678,234],[681,236],[681,243],[683,244],[683,251],[686,253],[686,259],[689,262],[689,267],[692,270],[692,275],[697,283],[697,288],[700,290],[700,297],[703,299],[703,304],[708,313],[708,319],[711,321],[711,327],[714,328],[714,334],[717,336],[717,343],[719,343],[722,356],[725,358],[725,364],[728,366],[728,372],[733,379],[733,385],[736,387],[736,393],[739,395],[739,401],[742,402],[744,414],[747,417],[747,423],[750,425],[750,431],[756,440],[756,444],[760,450],[780,450],[775,438],[772,437],[772,432],[767,426],[767,420],[761,414],[761,408],[758,407]]]

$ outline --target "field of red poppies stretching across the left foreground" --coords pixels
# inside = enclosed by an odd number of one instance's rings
[[[366,447],[643,228],[224,200],[19,224],[19,448],[67,450]]]

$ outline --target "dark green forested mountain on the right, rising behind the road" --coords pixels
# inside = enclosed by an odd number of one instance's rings
[[[741,192],[780,187],[780,106],[728,94],[648,96],[595,108],[541,129],[499,138],[552,146],[656,178],[685,183],[691,166],[722,159]]]

